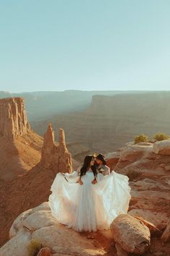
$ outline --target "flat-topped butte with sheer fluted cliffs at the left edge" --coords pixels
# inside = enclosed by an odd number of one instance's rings
[[[30,134],[23,98],[0,99],[0,137],[14,138]]]

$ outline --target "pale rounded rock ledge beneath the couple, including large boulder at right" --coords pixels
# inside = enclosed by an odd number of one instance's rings
[[[58,223],[48,202],[17,216],[9,230],[9,241],[0,248],[0,256],[28,256],[27,247],[32,242],[41,244],[40,255],[45,252],[49,256],[50,253],[53,256],[127,256],[129,252],[147,256],[169,255],[169,247],[165,245],[164,251],[158,254],[155,244],[151,244],[151,253],[143,254],[150,247],[150,231],[142,221],[128,214],[117,216],[111,230],[79,233]]]

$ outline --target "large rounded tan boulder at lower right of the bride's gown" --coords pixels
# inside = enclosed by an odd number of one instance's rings
[[[116,242],[117,255],[126,253],[143,255],[151,244],[151,234],[147,226],[132,216],[121,214],[111,224]]]

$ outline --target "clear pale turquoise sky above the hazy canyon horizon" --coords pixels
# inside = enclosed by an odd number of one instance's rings
[[[0,90],[170,90],[169,0],[0,0]]]

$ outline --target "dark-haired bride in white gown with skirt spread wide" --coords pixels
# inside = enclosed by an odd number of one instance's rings
[[[50,190],[52,215],[79,232],[109,229],[114,218],[128,212],[128,176],[115,171],[107,176],[98,174],[92,155],[84,158],[80,170],[58,173]]]

